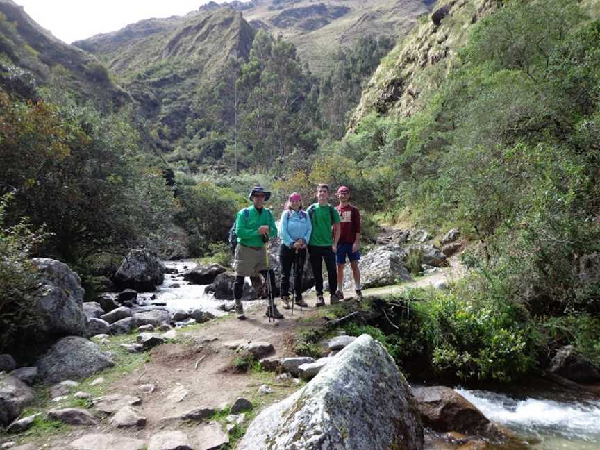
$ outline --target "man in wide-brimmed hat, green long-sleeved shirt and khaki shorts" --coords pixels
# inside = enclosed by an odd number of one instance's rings
[[[238,212],[235,219],[235,235],[238,236],[238,245],[235,247],[235,256],[233,268],[235,269],[235,281],[233,283],[233,297],[235,298],[235,312],[238,313],[238,319],[246,318],[242,306],[242,292],[244,289],[244,277],[253,276],[256,272],[263,275],[265,280],[267,276],[267,246],[265,240],[277,237],[277,227],[273,220],[270,210],[263,204],[269,200],[271,192],[265,191],[261,186],[255,186],[249,199],[252,206],[244,208]],[[273,269],[269,270],[271,283],[268,288],[274,292],[275,273]],[[273,308],[267,306],[265,315],[283,319],[276,306]]]

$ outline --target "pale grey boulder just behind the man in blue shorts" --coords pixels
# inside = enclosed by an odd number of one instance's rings
[[[412,276],[404,267],[404,251],[398,245],[390,244],[376,247],[360,257],[360,279],[363,288],[378,288],[396,284],[398,281],[412,281]],[[348,264],[344,273],[344,288],[354,286],[351,267]]]

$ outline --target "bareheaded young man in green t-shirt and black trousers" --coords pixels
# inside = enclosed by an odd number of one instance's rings
[[[313,224],[313,232],[308,241],[308,254],[310,266],[313,267],[315,275],[315,289],[317,290],[317,303],[315,306],[323,306],[323,261],[327,268],[329,280],[330,303],[338,303],[335,291],[338,290],[338,277],[335,270],[335,251],[337,251],[338,240],[340,240],[340,214],[329,204],[329,186],[319,184],[317,189],[318,203],[311,205],[307,212]],[[331,229],[333,228],[333,236]]]

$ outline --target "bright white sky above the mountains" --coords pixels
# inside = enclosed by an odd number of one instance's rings
[[[209,0],[13,0],[60,40],[73,42],[151,17],[184,15]],[[216,0],[224,3],[224,0]]]

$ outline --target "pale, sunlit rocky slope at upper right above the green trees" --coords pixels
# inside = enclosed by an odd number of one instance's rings
[[[408,116],[422,93],[443,83],[466,42],[469,25],[490,14],[495,0],[440,0],[433,13],[381,61],[349,123],[356,129],[368,113]]]

